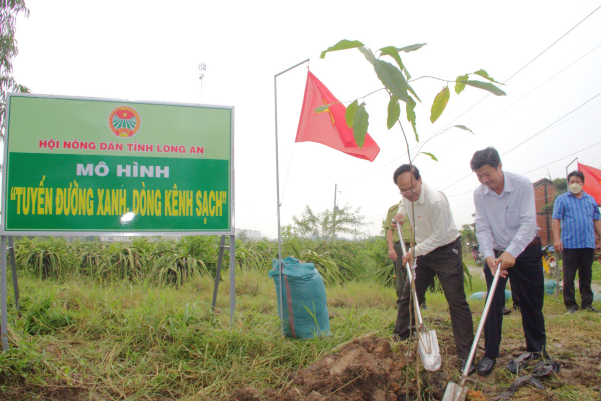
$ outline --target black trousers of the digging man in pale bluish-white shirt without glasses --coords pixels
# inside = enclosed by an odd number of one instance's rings
[[[498,258],[502,252],[495,250]],[[545,316],[543,316],[543,300],[545,282],[543,277],[543,253],[540,243],[534,244],[520,253],[516,264],[507,270],[511,280],[511,291],[515,291],[520,302],[522,313],[522,328],[526,339],[526,351],[541,352],[546,345]],[[490,285],[493,275],[488,267],[484,267],[486,287],[490,296]],[[501,343],[501,328],[503,326],[503,305],[505,303],[505,285],[507,277],[499,277],[493,294],[492,304],[486,322],[484,323],[484,356],[499,357]]]

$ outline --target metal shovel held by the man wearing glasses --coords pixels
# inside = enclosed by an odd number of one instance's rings
[[[405,255],[407,250],[405,249],[405,243],[403,241],[403,233],[401,232],[398,222],[396,222],[396,224],[398,236],[401,240],[401,249],[403,250],[403,255]],[[415,265],[413,265],[413,267],[415,267]],[[435,372],[436,370],[441,369],[441,350],[438,347],[438,338],[436,338],[436,331],[426,330],[426,325],[424,325],[424,321],[421,319],[417,292],[415,291],[415,286],[413,285],[413,271],[409,263],[406,264],[406,268],[407,280],[409,280],[409,286],[413,295],[413,309],[415,309],[415,316],[417,316],[418,321],[415,334],[416,337],[418,337],[419,358],[421,359],[421,364],[424,366],[424,369],[429,370],[430,372]]]

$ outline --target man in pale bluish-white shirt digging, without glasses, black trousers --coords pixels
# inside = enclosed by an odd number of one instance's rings
[[[520,300],[526,351],[531,353],[528,358],[546,355],[543,254],[532,182],[503,171],[499,153],[492,147],[475,152],[470,166],[482,184],[474,191],[476,237],[486,262],[484,276],[489,292],[493,275],[501,268],[484,324],[484,356],[477,367],[479,375],[489,375],[499,357],[507,277]],[[511,363],[508,367],[515,368]]]

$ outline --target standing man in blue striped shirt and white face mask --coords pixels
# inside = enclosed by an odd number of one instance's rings
[[[582,309],[601,313],[593,307],[591,291],[595,232],[601,237],[601,214],[596,200],[582,190],[581,171],[569,173],[567,183],[569,191],[558,196],[553,207],[554,247],[563,258],[564,304],[568,313],[578,310],[574,291],[578,271]]]

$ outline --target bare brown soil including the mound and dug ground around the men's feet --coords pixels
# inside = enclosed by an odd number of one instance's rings
[[[441,400],[449,381],[457,382],[460,376],[459,361],[455,356],[453,340],[439,333],[443,366],[438,372],[420,371],[421,398]],[[412,343],[413,345],[414,343]],[[406,397],[407,342],[392,345],[386,339],[364,337],[353,340],[315,363],[301,369],[293,376],[293,385],[288,388],[243,388],[230,397],[230,401],[408,401],[416,400],[415,378],[409,379],[409,398]],[[552,355],[560,363],[558,375],[540,379],[548,390],[538,390],[529,384],[516,391],[513,400],[559,400],[554,394],[564,385],[583,387],[599,391],[601,375],[601,349],[584,347],[577,355]],[[507,363],[523,352],[521,344],[505,342],[501,355],[490,376],[469,377],[466,384],[468,400],[486,401],[496,399],[499,393],[508,390],[514,379],[528,375],[535,361],[514,377],[507,377]],[[481,351],[478,353],[479,360]],[[415,357],[410,358],[415,363]]]

